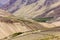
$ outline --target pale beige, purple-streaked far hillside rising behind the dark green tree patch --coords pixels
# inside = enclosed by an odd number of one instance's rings
[[[25,18],[50,17],[50,15],[55,15],[53,14],[55,11],[59,10],[59,5],[60,0],[38,0],[32,4],[22,6],[13,15]]]

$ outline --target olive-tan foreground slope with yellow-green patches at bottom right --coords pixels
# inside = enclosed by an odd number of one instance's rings
[[[45,31],[32,31],[23,33],[23,35],[18,35],[16,37],[7,38],[3,40],[40,40],[40,39],[51,39],[51,40],[60,40],[60,27],[52,28]]]

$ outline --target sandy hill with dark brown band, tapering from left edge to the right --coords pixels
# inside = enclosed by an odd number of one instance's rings
[[[31,20],[18,19],[0,9],[0,39],[18,32],[46,29],[43,25]]]

